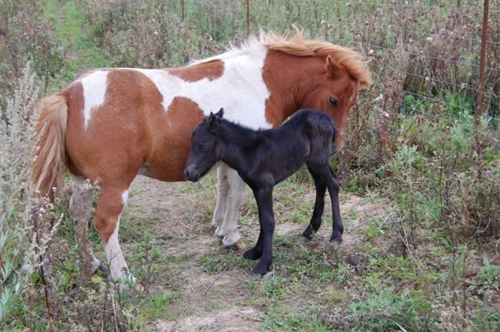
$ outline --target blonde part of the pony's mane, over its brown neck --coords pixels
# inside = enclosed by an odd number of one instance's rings
[[[328,43],[325,40],[307,40],[301,31],[296,29],[295,36],[285,39],[273,33],[260,32],[263,45],[293,56],[332,56],[345,67],[349,75],[357,80],[362,88],[372,84],[372,77],[367,67],[367,59],[363,54],[348,47]]]

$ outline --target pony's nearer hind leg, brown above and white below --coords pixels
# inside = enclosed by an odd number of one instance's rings
[[[128,198],[128,189],[102,187],[99,195],[98,209],[94,217],[94,225],[104,244],[106,261],[109,263],[113,281],[123,281],[128,278],[128,266],[122,254],[118,241],[120,215]],[[132,276],[130,278],[133,279]]]

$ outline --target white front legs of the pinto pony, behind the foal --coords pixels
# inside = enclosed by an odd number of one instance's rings
[[[227,195],[226,211],[223,223],[216,229],[216,235],[223,237],[223,244],[231,247],[240,240],[238,232],[238,217],[240,216],[240,205],[245,195],[245,182],[240,178],[238,172],[228,167],[227,179],[229,180],[229,191]]]

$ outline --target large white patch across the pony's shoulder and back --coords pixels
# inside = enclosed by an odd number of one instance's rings
[[[215,59],[224,61],[223,75],[214,80],[203,78],[187,82],[165,70],[131,70],[140,71],[157,86],[166,111],[175,97],[185,97],[198,104],[204,115],[223,107],[224,118],[229,121],[253,129],[271,128],[265,115],[266,99],[271,93],[262,78],[266,54],[266,47],[254,40],[242,49],[194,63]]]

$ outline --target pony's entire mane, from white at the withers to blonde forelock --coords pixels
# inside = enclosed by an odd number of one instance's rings
[[[194,64],[251,54],[252,51],[262,49],[262,47],[282,51],[293,56],[319,56],[324,58],[332,56],[334,60],[337,60],[345,67],[349,75],[357,80],[362,88],[368,88],[372,84],[370,71],[367,67],[367,58],[363,54],[355,49],[334,45],[325,40],[307,40],[299,29],[296,29],[295,36],[291,38],[277,36],[273,32],[265,33],[261,30],[259,37],[250,36],[239,47],[231,46],[225,54],[195,61]]]

